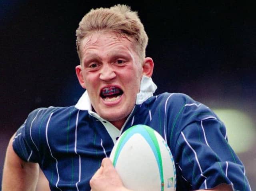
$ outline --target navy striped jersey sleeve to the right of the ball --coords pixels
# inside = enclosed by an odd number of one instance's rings
[[[179,185],[196,190],[226,183],[234,190],[250,191],[244,165],[228,143],[224,123],[192,99],[183,107],[175,147]]]

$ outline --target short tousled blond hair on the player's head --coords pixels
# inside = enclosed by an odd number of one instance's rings
[[[138,13],[129,6],[118,4],[110,8],[92,9],[82,18],[76,30],[76,48],[80,61],[81,41],[97,31],[115,32],[132,38],[139,58],[145,58],[148,36]]]

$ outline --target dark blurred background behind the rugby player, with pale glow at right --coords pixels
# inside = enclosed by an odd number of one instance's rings
[[[256,190],[256,17],[246,1],[1,0],[0,179],[8,140],[28,113],[74,105],[84,92],[75,30],[91,8],[117,3],[139,12],[156,94],[182,92],[214,109]]]

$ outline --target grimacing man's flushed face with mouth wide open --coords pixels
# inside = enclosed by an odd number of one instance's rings
[[[82,40],[78,80],[100,117],[121,128],[132,111],[143,75],[132,41],[112,32]]]

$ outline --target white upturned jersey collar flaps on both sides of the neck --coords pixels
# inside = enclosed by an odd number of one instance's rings
[[[141,104],[144,101],[146,101],[146,99],[153,96],[153,93],[156,91],[156,88],[157,86],[153,82],[152,78],[142,76],[140,82],[140,92],[137,94],[136,97],[136,104]],[[87,90],[80,97],[75,107],[80,110],[92,111],[92,105]]]

